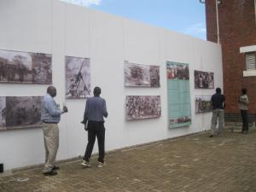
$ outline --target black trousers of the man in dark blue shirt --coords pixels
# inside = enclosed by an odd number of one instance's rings
[[[103,122],[88,122],[88,144],[84,154],[84,160],[89,161],[97,137],[99,147],[98,161],[104,162],[105,156],[105,127]]]

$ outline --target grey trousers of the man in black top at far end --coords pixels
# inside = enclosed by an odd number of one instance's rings
[[[218,120],[218,135],[223,135],[223,125],[224,125],[224,109],[214,109],[212,111],[212,125],[211,134],[216,135],[216,125]]]

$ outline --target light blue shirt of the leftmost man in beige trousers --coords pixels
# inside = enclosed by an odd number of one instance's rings
[[[42,100],[41,106],[41,120],[48,123],[59,123],[61,120],[61,108],[52,96],[46,94]]]

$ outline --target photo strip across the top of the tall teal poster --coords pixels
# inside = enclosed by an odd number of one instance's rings
[[[167,79],[189,80],[188,65],[167,62],[166,67],[167,67]]]

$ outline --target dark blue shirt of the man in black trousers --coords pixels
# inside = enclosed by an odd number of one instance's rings
[[[84,110],[84,125],[88,120],[96,122],[104,122],[103,117],[108,117],[105,100],[100,96],[93,96],[87,99]]]

